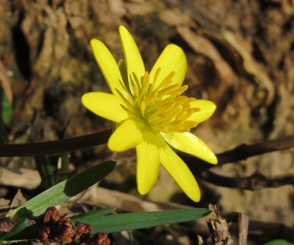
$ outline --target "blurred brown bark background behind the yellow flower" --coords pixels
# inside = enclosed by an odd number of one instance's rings
[[[0,17],[0,58],[13,92],[11,142],[62,138],[69,119],[68,137],[111,128],[80,98],[89,91],[109,92],[89,43],[97,38],[116,60],[123,58],[119,25],[132,33],[147,71],[168,43],[183,48],[187,95],[217,104],[215,115],[193,130],[215,153],[294,134],[293,0],[1,0]],[[110,153],[102,145],[72,157],[81,164],[93,154],[127,162],[134,175],[134,151]],[[294,173],[293,156],[292,149],[267,153],[214,171],[227,176]],[[30,161],[10,158],[2,164],[26,167]],[[223,213],[294,225],[292,186],[252,192],[200,185],[198,207],[217,201]],[[170,198],[171,186],[177,188],[161,172],[149,198]],[[166,194],[159,199],[158,193]]]

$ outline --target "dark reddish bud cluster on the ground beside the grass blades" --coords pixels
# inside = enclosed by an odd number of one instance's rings
[[[70,223],[70,218],[59,216],[55,207],[46,210],[40,240],[44,244],[59,241],[62,245],[109,245],[110,240],[105,233],[96,233],[91,237],[92,227],[89,224],[75,222],[77,230]]]

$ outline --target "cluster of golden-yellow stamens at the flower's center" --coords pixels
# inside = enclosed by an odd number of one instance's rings
[[[160,68],[156,70],[153,82],[150,83],[150,76],[146,72],[141,84],[131,84],[138,111],[155,130],[164,133],[189,132],[198,124],[187,120],[193,113],[200,111],[199,108],[191,108],[190,102],[196,99],[181,95],[188,85],[173,84],[174,71],[154,88],[159,74]]]

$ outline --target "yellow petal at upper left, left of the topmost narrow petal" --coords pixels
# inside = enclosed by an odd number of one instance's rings
[[[120,74],[119,67],[108,48],[104,43],[97,39],[91,40],[91,46],[98,66],[107,81],[111,92],[114,95],[123,95],[131,101],[130,94],[126,91],[126,88],[123,85],[123,78]],[[118,93],[118,91],[120,93]]]

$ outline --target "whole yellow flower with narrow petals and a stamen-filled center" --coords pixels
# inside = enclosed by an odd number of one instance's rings
[[[199,202],[198,184],[172,148],[217,164],[212,150],[189,133],[190,128],[208,119],[216,106],[209,100],[181,95],[188,86],[182,86],[187,60],[180,47],[169,44],[148,73],[125,27],[119,27],[119,36],[125,61],[118,64],[101,41],[91,40],[94,56],[112,94],[86,93],[82,103],[96,115],[119,125],[109,138],[109,149],[122,152],[136,147],[140,194],[153,187],[162,164],[184,193]]]

